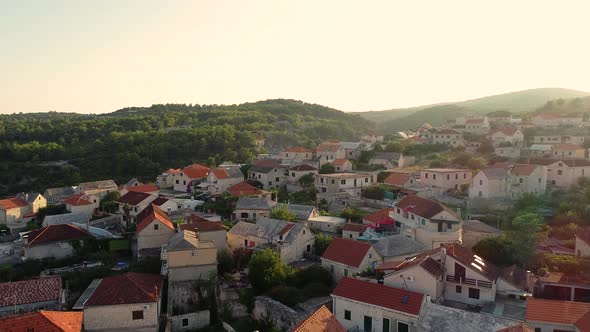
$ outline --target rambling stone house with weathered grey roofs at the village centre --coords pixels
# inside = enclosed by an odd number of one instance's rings
[[[264,218],[256,224],[240,221],[227,232],[231,250],[271,248],[281,261],[291,263],[313,252],[315,237],[307,225]]]

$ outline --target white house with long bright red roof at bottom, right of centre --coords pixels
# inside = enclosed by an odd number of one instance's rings
[[[332,292],[332,311],[348,331],[417,331],[424,294],[344,278]]]

